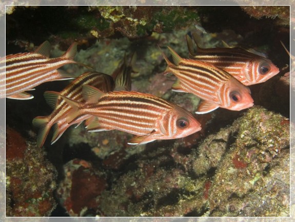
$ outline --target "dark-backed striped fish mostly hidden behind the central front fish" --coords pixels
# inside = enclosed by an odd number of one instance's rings
[[[46,91],[44,97],[47,103],[53,107],[53,112],[49,116],[40,116],[33,119],[33,125],[40,128],[37,136],[37,145],[43,146],[50,128],[54,125],[54,132],[51,143],[54,143],[67,128],[73,124],[80,124],[91,116],[82,116],[72,123],[68,123],[67,115],[71,112],[72,107],[69,106],[61,96],[69,97],[79,102],[85,102],[82,96],[82,86],[92,85],[102,91],[110,91],[114,88],[114,81],[111,76],[101,72],[85,72],[75,80],[73,80],[60,93],[54,91]],[[95,102],[95,101],[94,101]]]

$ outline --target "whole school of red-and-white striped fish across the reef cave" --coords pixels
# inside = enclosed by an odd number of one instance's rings
[[[186,36],[188,58],[181,58],[172,48],[172,62],[164,75],[178,79],[172,90],[191,93],[202,102],[196,114],[212,112],[219,107],[242,110],[253,106],[248,85],[265,82],[279,73],[269,59],[242,47],[201,48],[199,36]],[[0,69],[0,98],[27,100],[27,91],[55,80],[74,79],[61,92],[46,91],[46,102],[53,108],[49,116],[32,121],[39,128],[37,145],[42,147],[51,128],[51,144],[73,124],[82,122],[89,132],[119,130],[133,134],[128,144],[140,145],[158,139],[178,139],[201,130],[192,113],[163,98],[131,91],[131,72],[136,72],[136,54],[125,55],[117,69],[108,75],[94,70],[75,77],[60,69],[66,64],[88,65],[74,61],[77,44],[58,58],[50,58],[51,46],[44,42],[33,52],[7,55]],[[161,50],[161,49],[160,49]],[[5,78],[4,78],[5,76]],[[2,78],[1,78],[2,77]]]

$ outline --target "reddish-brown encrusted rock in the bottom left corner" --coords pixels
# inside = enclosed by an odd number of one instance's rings
[[[49,216],[56,170],[36,142],[6,129],[6,216]]]

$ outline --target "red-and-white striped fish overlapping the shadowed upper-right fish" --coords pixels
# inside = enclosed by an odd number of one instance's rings
[[[175,64],[163,53],[168,64],[164,75],[171,72],[178,78],[172,86],[174,91],[192,93],[203,99],[196,113],[208,113],[218,107],[241,110],[253,105],[250,89],[228,72],[208,63],[182,59],[173,49],[168,49]]]

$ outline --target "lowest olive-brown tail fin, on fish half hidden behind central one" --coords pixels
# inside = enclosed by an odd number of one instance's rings
[[[37,136],[37,146],[42,147],[46,137],[49,133],[51,125],[48,124],[49,122],[49,117],[35,117],[33,119],[33,125],[36,127],[39,127],[39,132]]]

